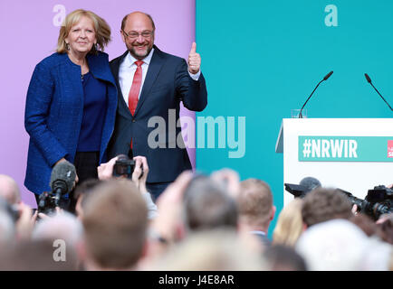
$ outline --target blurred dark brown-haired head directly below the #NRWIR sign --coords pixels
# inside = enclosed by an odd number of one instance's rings
[[[346,195],[332,189],[316,189],[303,199],[302,219],[309,228],[330,219],[350,219],[352,205]]]

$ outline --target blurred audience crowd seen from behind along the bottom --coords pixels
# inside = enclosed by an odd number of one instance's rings
[[[146,158],[135,157],[131,178],[113,176],[117,158],[101,164],[98,180],[77,184],[74,213],[34,212],[0,175],[0,269],[393,269],[393,215],[370,219],[340,191],[315,189],[276,214],[262,180],[185,171],[153,201]]]

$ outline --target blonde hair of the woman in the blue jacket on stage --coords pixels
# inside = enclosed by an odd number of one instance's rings
[[[92,23],[94,24],[94,32],[96,34],[97,46],[100,51],[104,51],[105,46],[107,46],[110,42],[110,25],[108,25],[108,23],[99,15],[94,14],[91,11],[78,9],[68,14],[65,17],[64,22],[62,23],[62,28],[60,28],[59,38],[57,40],[57,52],[67,52],[67,45],[65,43],[65,39],[68,37],[72,26],[75,23],[78,23],[81,20],[82,16],[86,16],[91,19]],[[92,46],[90,53],[97,53],[95,45]]]

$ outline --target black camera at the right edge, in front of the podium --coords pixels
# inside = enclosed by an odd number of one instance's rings
[[[356,198],[349,191],[337,190],[347,195],[352,205],[357,205],[359,212],[374,220],[379,219],[383,214],[393,212],[393,190],[384,185],[375,186],[374,189],[369,190],[365,200]]]

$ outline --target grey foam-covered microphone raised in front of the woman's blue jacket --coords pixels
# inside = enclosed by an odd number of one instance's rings
[[[54,201],[56,206],[59,205],[59,200],[62,195],[72,191],[73,184],[76,178],[75,166],[68,162],[63,161],[57,163],[51,173],[51,182],[49,185],[55,194]]]

